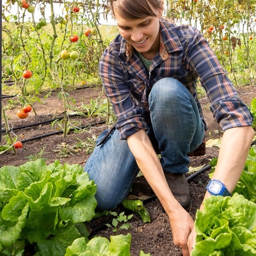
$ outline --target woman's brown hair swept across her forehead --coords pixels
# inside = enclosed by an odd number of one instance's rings
[[[110,0],[113,15],[116,12],[124,19],[141,19],[147,16],[156,17],[158,10],[163,10],[161,0]]]

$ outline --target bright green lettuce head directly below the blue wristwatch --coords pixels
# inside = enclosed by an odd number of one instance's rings
[[[256,204],[243,195],[211,196],[196,212],[192,256],[256,255]]]

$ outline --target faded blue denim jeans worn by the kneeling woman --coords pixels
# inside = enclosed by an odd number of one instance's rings
[[[161,154],[163,170],[188,172],[189,152],[204,139],[204,126],[195,99],[188,89],[173,78],[157,81],[148,104],[152,124],[147,134],[157,154]],[[97,143],[106,136],[102,132]],[[114,209],[128,195],[139,168],[126,140],[120,140],[118,130],[95,147],[84,171],[97,184],[97,210]]]

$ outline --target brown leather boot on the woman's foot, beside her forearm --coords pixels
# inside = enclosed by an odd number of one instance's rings
[[[169,188],[173,196],[177,199],[180,205],[186,210],[191,209],[191,197],[189,194],[188,181],[184,174],[164,172]]]

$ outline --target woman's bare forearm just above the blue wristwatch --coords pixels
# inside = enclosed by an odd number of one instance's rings
[[[228,129],[223,134],[218,163],[212,179],[221,180],[230,193],[243,172],[254,135],[255,132],[250,126]],[[209,193],[205,194],[205,198],[209,196]]]

